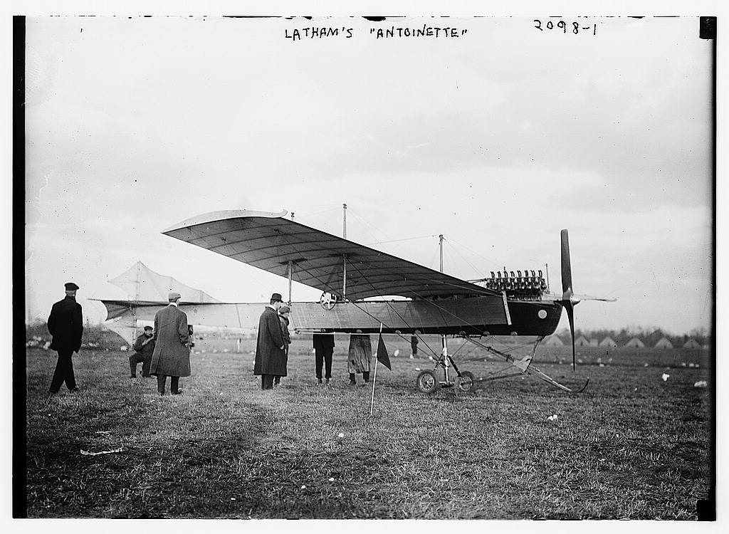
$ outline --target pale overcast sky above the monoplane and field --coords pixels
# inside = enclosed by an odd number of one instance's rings
[[[709,328],[712,43],[698,18],[547,20],[28,18],[26,315],[74,281],[103,320],[87,298],[125,298],[107,279],[137,260],[222,301],[285,294],[160,232],[286,209],[341,235],[346,203],[348,239],[437,269],[443,233],[448,274],[548,263],[553,290],[569,228],[575,291],[618,299],[577,328]],[[370,31],[424,25],[459,36]]]

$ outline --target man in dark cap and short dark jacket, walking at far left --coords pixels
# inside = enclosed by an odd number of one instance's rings
[[[61,390],[61,384],[66,382],[69,391],[78,391],[74,377],[74,363],[71,356],[81,348],[81,335],[84,331],[81,304],[76,302],[76,290],[79,288],[74,282],[65,284],[66,298],[53,304],[48,317],[48,331],[53,339],[50,348],[58,352],[58,362],[50,382],[48,392],[55,395]]]

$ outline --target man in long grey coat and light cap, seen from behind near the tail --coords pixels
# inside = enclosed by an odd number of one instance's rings
[[[170,291],[170,303],[155,314],[155,352],[149,365],[149,374],[157,375],[157,391],[165,394],[165,382],[170,377],[170,392],[179,395],[180,376],[190,376],[190,332],[187,314],[179,309],[182,295]]]

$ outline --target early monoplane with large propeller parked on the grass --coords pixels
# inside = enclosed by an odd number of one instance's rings
[[[547,293],[542,271],[501,271],[472,281],[420,266],[402,258],[316,230],[293,220],[286,212],[231,210],[212,212],[184,220],[163,231],[165,235],[247,263],[289,281],[314,287],[323,293],[319,302],[294,302],[292,327],[310,333],[392,333],[400,336],[440,334],[443,348],[434,371],[422,371],[416,385],[423,392],[439,387],[469,390],[475,381],[532,374],[562,390],[569,387],[531,365],[534,352],[545,336],[554,333],[564,308],[572,333],[574,371],[574,305],[580,300],[572,291],[572,268],[567,231],[561,231],[562,295]],[[171,289],[171,288],[168,288]],[[255,328],[263,303],[222,303],[198,292],[183,293],[182,308],[191,324]],[[393,300],[401,297],[408,300]],[[101,300],[101,299],[100,299]],[[612,299],[614,300],[614,299]],[[136,298],[129,301],[101,300],[108,318],[128,314],[136,320],[151,320],[165,301]],[[509,366],[491,376],[476,379],[460,371],[448,354],[446,336],[459,336]],[[514,357],[486,344],[489,336],[537,336],[529,354]],[[486,338],[486,339],[482,339]],[[456,375],[449,379],[448,368]],[[588,379],[589,380],[589,379]],[[582,389],[587,385],[582,386]]]

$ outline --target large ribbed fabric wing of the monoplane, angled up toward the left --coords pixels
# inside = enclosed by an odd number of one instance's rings
[[[165,235],[350,300],[399,295],[500,295],[454,276],[284,219],[286,212],[199,215]],[[346,261],[345,261],[346,258]]]

